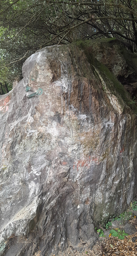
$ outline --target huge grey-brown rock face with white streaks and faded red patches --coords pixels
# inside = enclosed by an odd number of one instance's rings
[[[94,225],[136,195],[136,115],[123,86],[86,49],[36,52],[0,97],[0,255],[94,243]]]

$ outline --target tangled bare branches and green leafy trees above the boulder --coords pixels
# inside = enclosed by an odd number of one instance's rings
[[[137,0],[0,0],[0,94],[36,50],[100,37],[116,37],[134,52]]]

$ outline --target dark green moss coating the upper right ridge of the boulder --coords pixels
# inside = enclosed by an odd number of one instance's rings
[[[131,95],[124,89],[124,86],[118,81],[117,77],[113,75],[105,65],[100,63],[92,55],[93,44],[94,46],[95,44],[98,45],[100,43],[105,43],[109,45],[109,43],[111,42],[114,43],[114,41],[116,41],[116,45],[117,45],[118,41],[116,38],[102,38],[102,39],[96,39],[96,40],[78,40],[73,42],[72,44],[77,45],[80,49],[84,50],[84,53],[88,58],[88,61],[92,67],[94,74],[98,76],[98,74],[95,71],[95,69],[97,69],[99,71],[99,74],[103,78],[107,89],[118,98],[121,106],[124,107],[124,104],[122,102],[122,99],[123,99],[126,105],[130,107],[132,110],[134,110],[134,112],[137,114],[137,105],[132,101]],[[124,46],[121,44],[119,44],[117,48],[119,53],[124,56],[127,63],[129,63],[132,69],[134,68],[134,70],[137,72],[137,56],[134,56],[134,54],[127,51],[124,48]],[[106,91],[105,88],[103,88],[103,85],[102,85],[102,89],[104,92]],[[133,104],[130,104],[131,101]]]

